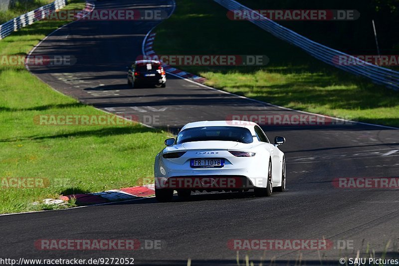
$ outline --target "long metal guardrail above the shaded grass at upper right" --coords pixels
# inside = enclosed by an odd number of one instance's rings
[[[298,46],[305,50],[307,53],[312,55],[313,57],[327,63],[333,65],[337,68],[340,68],[344,71],[350,72],[352,74],[363,76],[371,79],[374,83],[384,85],[388,88],[391,88],[395,91],[399,90],[399,72],[388,69],[385,67],[377,66],[358,58],[355,58],[352,55],[340,52],[338,50],[332,49],[330,47],[324,46],[320,43],[312,41],[293,30],[290,30],[286,27],[281,26],[275,21],[262,16],[257,11],[254,11],[237,1],[234,0],[214,0],[220,5],[226,7],[229,10],[245,10],[251,13],[256,14],[256,16],[261,17],[262,19],[257,20],[248,20],[258,27],[266,30],[267,32],[273,34],[274,36],[287,41],[295,46]],[[338,56],[345,56],[350,60],[355,62],[359,62],[357,65],[342,65],[334,63]]]

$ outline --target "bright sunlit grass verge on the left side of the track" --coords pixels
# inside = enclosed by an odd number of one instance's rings
[[[72,2],[66,8],[83,6]],[[0,40],[1,55],[26,55],[65,23],[40,21],[14,32]],[[154,157],[167,133],[141,125],[36,125],[37,115],[104,113],[53,91],[23,65],[0,65],[0,95],[0,213],[54,208],[32,202],[134,186],[153,176]],[[13,188],[10,178],[41,178],[45,187]]]

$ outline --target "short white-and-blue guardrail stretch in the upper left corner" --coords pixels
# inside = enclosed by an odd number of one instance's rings
[[[67,0],[55,0],[52,3],[43,5],[35,10],[29,11],[5,22],[4,24],[1,24],[0,40],[11,34],[13,31],[17,31],[26,25],[33,24],[34,22],[45,18],[45,16],[48,15],[49,12],[64,7],[66,3]]]

